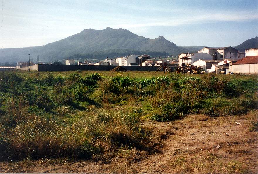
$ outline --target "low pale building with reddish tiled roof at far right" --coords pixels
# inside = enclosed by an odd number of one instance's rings
[[[258,56],[246,56],[232,64],[233,73],[257,74]]]

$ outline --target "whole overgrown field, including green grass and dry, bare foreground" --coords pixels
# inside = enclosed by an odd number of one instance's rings
[[[248,166],[257,158],[249,163],[236,158],[239,154],[230,142],[235,138],[232,128],[240,128],[232,121],[237,120],[244,126],[235,134],[244,136],[235,140],[236,148],[243,148],[244,157],[254,153],[250,148],[257,143],[257,89],[257,76],[252,75],[3,71],[0,171],[9,166],[8,172],[24,173],[24,165],[32,172],[32,165],[46,165],[47,160],[59,167],[83,161],[102,166],[96,168],[100,173],[138,173],[146,166],[154,173],[250,172]],[[213,133],[223,130],[225,138],[201,133],[208,128]],[[194,136],[198,142],[191,140]],[[230,161],[223,161],[220,150]],[[164,161],[162,171],[143,165],[159,163],[155,159]],[[196,165],[188,165],[191,160]],[[139,162],[142,168],[136,167]]]

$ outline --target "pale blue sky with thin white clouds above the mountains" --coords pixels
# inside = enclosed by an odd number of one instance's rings
[[[106,27],[177,46],[237,46],[258,36],[258,0],[2,0],[0,7],[0,48]]]

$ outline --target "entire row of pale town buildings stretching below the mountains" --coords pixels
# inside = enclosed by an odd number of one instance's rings
[[[112,66],[161,66],[167,63],[169,66],[185,66],[186,64],[191,64],[194,66],[201,66],[207,73],[232,73],[233,64],[244,58],[245,56],[258,56],[258,49],[251,48],[245,50],[245,52],[240,52],[237,49],[229,47],[204,47],[197,53],[182,53],[178,55],[178,61],[174,60],[156,60],[155,58],[150,58],[149,55],[130,55],[126,57],[118,57],[115,59],[106,58],[104,61],[97,63],[80,62],[79,65],[112,65]],[[245,59],[246,60],[246,59]],[[75,64],[75,60],[66,60],[66,64]],[[255,62],[253,63],[255,64]],[[237,67],[237,66],[235,66]],[[239,67],[239,66],[238,66]],[[256,72],[252,71],[252,66],[250,66],[250,71],[242,71],[243,73]],[[238,68],[239,69],[239,68]],[[237,69],[235,72],[238,72]]]

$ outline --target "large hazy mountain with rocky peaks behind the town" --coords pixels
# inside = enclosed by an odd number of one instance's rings
[[[59,60],[75,54],[90,55],[94,54],[94,52],[112,49],[128,49],[142,52],[150,50],[160,52],[160,54],[178,54],[176,44],[166,40],[163,36],[149,39],[138,36],[126,29],[107,27],[103,30],[85,29],[80,33],[44,46],[0,49],[0,62],[27,61],[28,51],[30,51],[30,57],[39,55],[40,61],[50,61],[50,59]],[[121,56],[119,51],[117,52],[117,54],[114,52],[112,55]],[[98,58],[103,59],[105,57],[101,55]]]

